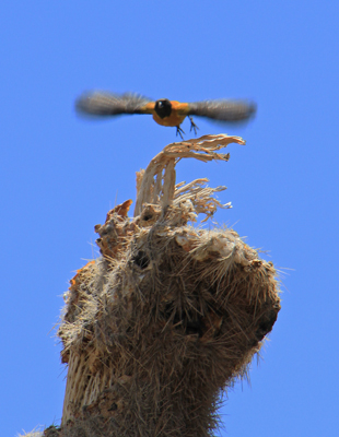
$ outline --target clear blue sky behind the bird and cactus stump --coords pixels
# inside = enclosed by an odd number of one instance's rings
[[[247,140],[229,163],[177,172],[226,185],[233,210],[215,220],[284,272],[262,361],[230,392],[221,434],[339,435],[338,14],[327,0],[3,2],[1,436],[59,422],[66,371],[49,331],[61,295],[93,257],[93,226],[176,140],[147,116],[79,119],[73,101],[92,88],[257,102],[245,128],[196,119],[201,134]]]

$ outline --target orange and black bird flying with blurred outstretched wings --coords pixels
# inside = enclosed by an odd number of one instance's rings
[[[114,117],[122,114],[150,114],[161,126],[176,128],[176,134],[183,139],[182,122],[186,117],[190,120],[190,130],[197,134],[197,125],[191,116],[206,117],[224,122],[237,122],[249,119],[256,111],[256,105],[247,101],[203,101],[180,103],[160,98],[152,101],[138,94],[112,94],[92,92],[83,94],[75,103],[81,114]]]

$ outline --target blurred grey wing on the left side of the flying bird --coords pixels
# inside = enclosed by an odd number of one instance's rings
[[[118,116],[121,114],[148,114],[144,106],[151,98],[138,94],[110,94],[93,92],[83,94],[75,102],[79,113],[93,116]]]

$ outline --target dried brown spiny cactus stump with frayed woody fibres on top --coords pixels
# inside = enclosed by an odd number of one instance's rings
[[[237,137],[166,146],[131,201],[95,226],[102,257],[72,279],[58,334],[68,363],[60,436],[211,436],[221,391],[244,376],[280,309],[266,262],[232,229],[188,225],[222,205],[182,157],[227,161]],[[46,432],[45,432],[46,433]],[[48,435],[48,433],[46,433]]]

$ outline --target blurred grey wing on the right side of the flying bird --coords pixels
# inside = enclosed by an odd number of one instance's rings
[[[253,117],[256,105],[247,101],[204,101],[188,104],[188,115],[220,121],[242,121]]]

